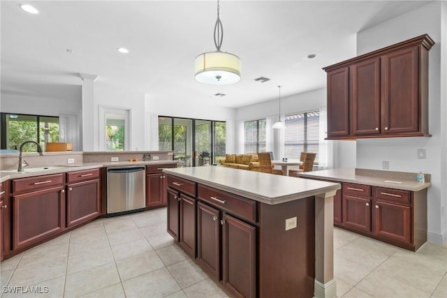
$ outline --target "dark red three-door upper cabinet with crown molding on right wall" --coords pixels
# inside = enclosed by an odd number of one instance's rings
[[[428,133],[427,34],[323,68],[328,139]]]

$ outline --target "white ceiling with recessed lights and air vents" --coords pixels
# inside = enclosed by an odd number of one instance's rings
[[[241,107],[277,98],[279,84],[281,96],[324,87],[321,68],[354,57],[357,32],[428,1],[223,0],[221,50],[242,61],[242,80],[226,86],[193,74],[194,58],[215,50],[217,1],[29,1],[38,15],[20,3],[0,3],[3,95],[73,100],[89,73],[156,100]]]

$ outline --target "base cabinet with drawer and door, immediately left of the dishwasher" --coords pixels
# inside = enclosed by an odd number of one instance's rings
[[[67,227],[98,217],[101,213],[99,170],[70,172],[67,174],[67,183]]]

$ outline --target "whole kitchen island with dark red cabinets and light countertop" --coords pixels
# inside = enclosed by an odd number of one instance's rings
[[[228,167],[164,169],[168,232],[237,297],[336,297],[339,184]]]

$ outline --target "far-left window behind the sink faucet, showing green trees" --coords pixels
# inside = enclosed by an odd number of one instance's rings
[[[19,149],[24,141],[36,141],[45,151],[47,142],[59,142],[59,117],[1,113],[1,149]],[[24,152],[36,146],[23,147]]]

